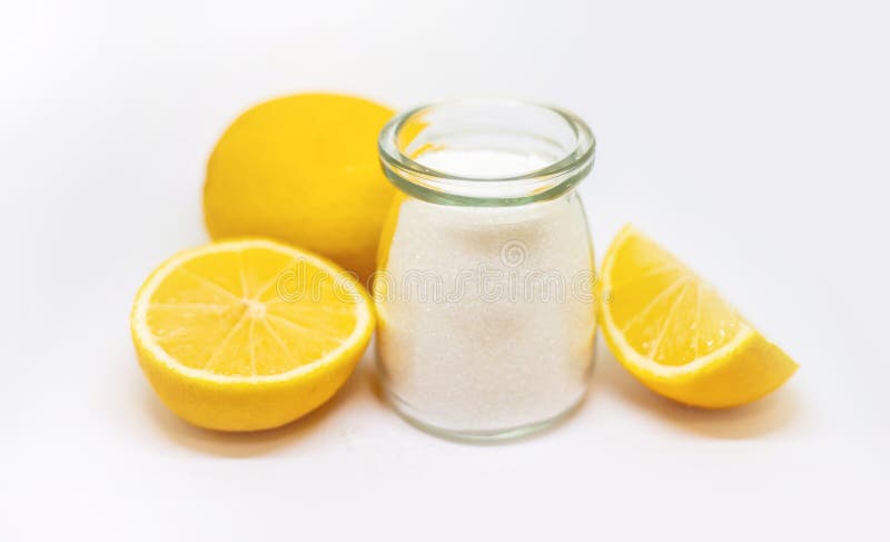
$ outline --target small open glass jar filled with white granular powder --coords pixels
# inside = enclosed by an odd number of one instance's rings
[[[445,436],[520,436],[584,397],[593,248],[575,193],[595,141],[576,116],[516,101],[419,107],[380,132],[398,188],[374,298],[383,388]]]

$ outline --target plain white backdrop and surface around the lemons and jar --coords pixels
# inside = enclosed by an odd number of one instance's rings
[[[890,10],[872,1],[0,3],[0,539],[888,540]],[[600,255],[634,221],[800,364],[699,412],[602,352],[537,437],[421,433],[366,356],[286,428],[155,398],[128,311],[207,240],[228,122],[300,90],[578,112]]]

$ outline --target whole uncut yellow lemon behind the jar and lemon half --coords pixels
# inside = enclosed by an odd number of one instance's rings
[[[210,236],[274,237],[367,278],[395,193],[377,161],[377,135],[392,116],[373,101],[330,93],[247,110],[207,165]]]

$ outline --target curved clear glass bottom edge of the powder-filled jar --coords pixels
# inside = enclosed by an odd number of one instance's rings
[[[558,425],[561,422],[574,414],[574,412],[578,408],[578,406],[581,406],[582,403],[584,403],[584,400],[587,396],[587,390],[585,388],[584,393],[581,393],[577,398],[570,403],[568,406],[566,406],[563,411],[545,420],[538,420],[527,424],[504,428],[464,431],[452,427],[442,427],[424,421],[423,417],[418,415],[408,403],[392,392],[385,384],[383,384],[380,387],[384,391],[386,401],[389,403],[393,410],[396,411],[396,413],[411,425],[417,427],[424,433],[432,434],[433,436],[437,436],[439,438],[475,444],[517,441],[546,431],[555,425]]]

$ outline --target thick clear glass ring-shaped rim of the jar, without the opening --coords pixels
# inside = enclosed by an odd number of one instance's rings
[[[574,137],[561,158],[517,175],[469,176],[425,166],[398,145],[403,130],[429,112],[449,107],[525,108],[555,114]],[[416,126],[416,125],[415,125]],[[378,150],[387,178],[421,199],[451,205],[523,205],[560,196],[590,173],[596,149],[591,128],[565,109],[524,100],[459,99],[414,107],[396,115],[380,130]]]

